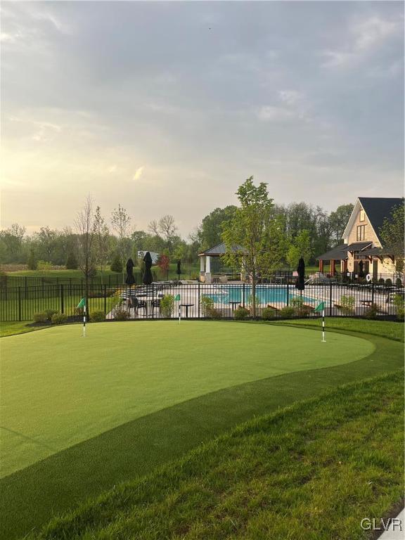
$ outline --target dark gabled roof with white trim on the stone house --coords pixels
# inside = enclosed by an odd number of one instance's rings
[[[361,208],[364,209],[368,217],[368,221],[375,232],[378,240],[381,242],[380,229],[383,226],[384,220],[390,218],[395,207],[401,205],[404,202],[404,198],[401,197],[359,197],[354,205],[352,215],[347,221],[343,238],[347,240],[349,232],[352,229],[354,219],[356,219],[357,212]]]

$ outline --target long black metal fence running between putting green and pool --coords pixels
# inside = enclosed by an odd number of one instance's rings
[[[1,321],[32,321],[34,314],[52,309],[79,320],[77,304],[85,295],[84,284],[19,286],[0,290]],[[164,300],[171,296],[172,299]],[[238,307],[252,314],[252,288],[248,283],[155,283],[146,286],[89,286],[88,309],[103,311],[108,320],[127,312],[129,319],[224,318]],[[176,300],[174,300],[176,298]],[[383,284],[314,283],[300,295],[288,280],[262,283],[256,290],[256,315],[289,318],[318,316],[315,307],[324,302],[326,316],[393,317],[404,300],[404,287]],[[167,304],[169,307],[167,307]],[[266,308],[270,310],[264,311]]]

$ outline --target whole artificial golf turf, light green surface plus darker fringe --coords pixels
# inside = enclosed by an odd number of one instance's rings
[[[402,364],[399,342],[330,333],[324,344],[266,324],[100,323],[79,335],[65,326],[1,341],[1,538],[252,416]]]

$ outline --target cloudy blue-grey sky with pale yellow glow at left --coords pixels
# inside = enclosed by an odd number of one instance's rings
[[[404,192],[404,4],[1,3],[1,227]]]

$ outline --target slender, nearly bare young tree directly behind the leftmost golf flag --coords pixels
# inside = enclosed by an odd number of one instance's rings
[[[90,195],[86,198],[82,210],[77,213],[75,229],[77,232],[77,262],[79,264],[79,269],[81,269],[84,274],[84,281],[86,283],[85,300],[87,307],[89,278],[94,273],[95,267],[93,200]],[[88,310],[87,317],[89,317]]]

